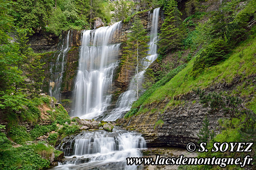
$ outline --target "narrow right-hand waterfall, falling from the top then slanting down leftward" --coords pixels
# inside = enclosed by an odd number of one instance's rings
[[[143,76],[145,73],[145,70],[149,67],[149,65],[157,59],[157,45],[155,44],[158,40],[158,18],[159,18],[159,11],[160,8],[156,8],[153,11],[153,14],[149,12],[149,16],[152,15],[152,25],[150,30],[150,43],[149,45],[149,51],[148,56],[146,57],[147,60],[142,61],[142,65],[144,66],[144,70],[138,73],[139,77],[139,84],[142,86]],[[137,69],[137,68],[136,68]],[[103,120],[109,121],[109,120],[116,120],[122,116],[122,113],[130,110],[131,104],[136,100],[136,80],[135,77],[131,79],[131,82],[129,84],[128,89],[123,92],[117,101],[117,107],[111,111],[111,113],[104,118]]]

